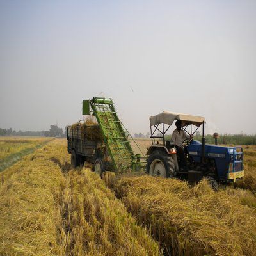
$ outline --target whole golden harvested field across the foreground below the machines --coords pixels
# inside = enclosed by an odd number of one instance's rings
[[[141,173],[104,181],[72,170],[62,139],[1,172],[0,255],[256,255],[253,189]]]

